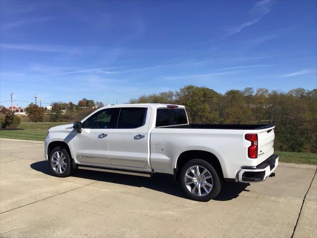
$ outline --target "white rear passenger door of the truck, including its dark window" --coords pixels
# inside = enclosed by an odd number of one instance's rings
[[[144,168],[148,158],[150,107],[122,107],[116,129],[111,129],[111,165]]]

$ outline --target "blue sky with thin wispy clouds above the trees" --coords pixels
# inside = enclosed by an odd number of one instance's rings
[[[0,102],[187,84],[317,88],[317,1],[0,1]]]

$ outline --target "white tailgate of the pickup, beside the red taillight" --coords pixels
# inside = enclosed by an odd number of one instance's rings
[[[267,128],[258,132],[258,143],[258,157],[270,156],[273,153],[274,146],[274,127]]]

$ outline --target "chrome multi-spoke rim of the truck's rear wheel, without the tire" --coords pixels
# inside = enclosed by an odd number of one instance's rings
[[[206,196],[211,192],[212,176],[203,166],[191,166],[186,171],[184,179],[187,189],[196,196]]]

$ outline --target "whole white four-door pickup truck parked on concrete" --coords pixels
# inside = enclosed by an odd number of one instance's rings
[[[273,125],[190,124],[180,105],[103,107],[48,132],[45,158],[57,177],[73,169],[171,174],[197,201],[217,196],[223,181],[264,181],[278,164]]]

